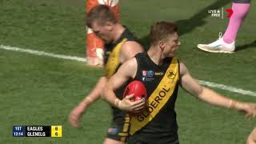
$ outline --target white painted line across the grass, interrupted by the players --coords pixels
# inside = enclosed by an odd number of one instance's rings
[[[78,62],[86,62],[86,58],[78,58],[78,57],[74,57],[74,56],[70,56],[70,55],[62,55],[62,54],[51,54],[51,53],[46,53],[46,52],[38,51],[38,50],[22,49],[19,47],[1,45],[0,49],[14,50],[14,51],[19,51],[19,52],[29,53],[29,54],[36,54],[36,55],[45,55],[48,57],[69,59],[69,60],[74,60],[74,61],[78,61]],[[210,87],[217,88],[220,90],[228,90],[228,91],[231,91],[234,93],[250,95],[250,96],[256,97],[256,92],[254,92],[254,91],[242,90],[242,89],[234,87],[234,86],[226,86],[226,85],[222,85],[219,83],[207,82],[207,81],[202,81],[202,80],[198,80],[198,82],[204,86],[210,86]]]

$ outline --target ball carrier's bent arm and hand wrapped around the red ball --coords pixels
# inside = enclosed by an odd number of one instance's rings
[[[130,94],[123,98],[118,99],[114,94],[114,90],[117,90],[123,84],[125,84],[130,78],[134,78],[137,71],[137,61],[135,58],[131,58],[120,66],[118,71],[110,78],[106,83],[103,90],[102,98],[109,102],[112,106],[121,110],[136,111],[141,110],[145,104],[142,100],[138,102],[130,102],[130,98],[134,97],[134,94]]]

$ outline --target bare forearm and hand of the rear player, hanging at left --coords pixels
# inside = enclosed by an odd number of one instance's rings
[[[74,109],[70,112],[69,120],[70,124],[73,127],[78,127],[82,114],[86,111],[87,107],[90,106],[93,102],[97,101],[102,94],[102,90],[106,85],[106,77],[101,77],[98,79],[98,83],[94,86],[94,89],[90,91],[85,98],[82,99],[82,102],[75,106]]]

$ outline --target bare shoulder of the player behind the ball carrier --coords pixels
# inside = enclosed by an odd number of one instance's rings
[[[129,41],[124,42],[122,44],[121,53],[120,53],[120,62],[126,62],[126,60],[130,58],[134,58],[134,56],[138,53],[142,53],[143,48],[138,42]]]

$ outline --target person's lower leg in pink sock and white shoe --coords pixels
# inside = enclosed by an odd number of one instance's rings
[[[250,0],[233,0],[232,10],[234,13],[230,18],[223,37],[219,35],[218,40],[210,44],[198,44],[198,48],[211,53],[233,53],[238,30],[246,18],[249,9]]]

